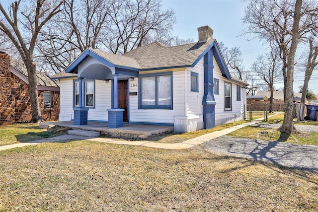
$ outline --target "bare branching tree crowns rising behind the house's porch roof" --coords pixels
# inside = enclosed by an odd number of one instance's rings
[[[41,34],[43,63],[64,70],[86,48],[124,54],[154,40],[171,40],[175,16],[160,0],[65,0]]]

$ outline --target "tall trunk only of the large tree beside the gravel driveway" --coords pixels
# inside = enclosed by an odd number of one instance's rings
[[[293,122],[294,112],[294,62],[295,54],[299,41],[299,22],[300,22],[300,11],[302,8],[302,0],[296,0],[295,12],[294,12],[294,23],[292,29],[292,44],[289,50],[288,62],[287,62],[287,74],[285,83],[285,115],[283,125],[280,129],[280,140],[286,141],[290,134],[295,130]]]

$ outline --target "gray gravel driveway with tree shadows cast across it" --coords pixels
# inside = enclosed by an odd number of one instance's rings
[[[265,126],[268,128],[277,128],[277,124]],[[318,126],[297,125],[296,129],[303,132],[318,133]],[[318,146],[316,145],[222,136],[203,143],[201,148],[209,152],[251,158],[257,161],[270,161],[277,165],[306,169],[318,174]]]

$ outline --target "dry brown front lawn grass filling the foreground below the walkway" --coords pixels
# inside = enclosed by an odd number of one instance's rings
[[[0,211],[316,211],[318,176],[201,151],[90,141],[0,152]]]

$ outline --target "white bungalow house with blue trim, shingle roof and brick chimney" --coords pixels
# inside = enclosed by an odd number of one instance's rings
[[[245,118],[246,82],[232,76],[209,26],[196,43],[154,42],[124,55],[88,48],[60,79],[60,121],[210,129]]]

